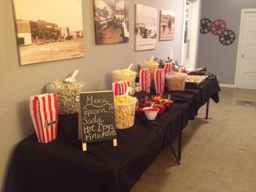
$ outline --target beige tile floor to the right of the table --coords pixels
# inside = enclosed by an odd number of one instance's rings
[[[256,90],[221,89],[209,119],[203,106],[183,130],[181,165],[166,148],[131,192],[256,192],[256,108],[236,105]]]

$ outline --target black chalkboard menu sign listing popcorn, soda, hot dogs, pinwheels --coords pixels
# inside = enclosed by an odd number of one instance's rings
[[[113,91],[79,94],[79,131],[83,151],[86,143],[113,140],[116,146],[116,125]]]

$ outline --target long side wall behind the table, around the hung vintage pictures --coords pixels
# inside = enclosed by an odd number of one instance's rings
[[[151,55],[181,60],[183,0],[129,0],[130,42],[96,46],[94,40],[92,0],[82,0],[85,57],[20,66],[16,46],[12,0],[0,0],[0,189],[4,185],[12,152],[16,144],[34,132],[29,115],[29,96],[45,93],[46,84],[63,80],[75,69],[76,79],[85,82],[86,91],[111,89],[110,72],[137,64]],[[134,52],[134,4],[176,12],[173,41],[157,43],[155,50]],[[158,19],[159,23],[159,19]]]

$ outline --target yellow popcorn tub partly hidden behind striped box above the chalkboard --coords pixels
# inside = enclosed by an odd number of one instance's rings
[[[112,71],[112,82],[130,82],[130,85],[135,83],[137,72],[134,72],[130,69],[120,69]]]

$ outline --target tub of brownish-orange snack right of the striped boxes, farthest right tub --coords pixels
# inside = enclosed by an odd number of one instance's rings
[[[185,89],[185,79],[187,73],[170,72],[165,74],[167,81],[167,89],[169,91],[183,91]]]

